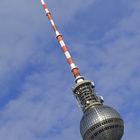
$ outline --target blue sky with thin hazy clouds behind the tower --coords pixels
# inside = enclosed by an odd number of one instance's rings
[[[48,0],[75,63],[140,137],[140,1]],[[40,1],[0,1],[0,139],[81,140],[73,76]]]

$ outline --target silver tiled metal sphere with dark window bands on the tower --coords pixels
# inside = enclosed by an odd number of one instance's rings
[[[80,131],[83,140],[121,140],[124,123],[116,110],[98,105],[84,113]]]

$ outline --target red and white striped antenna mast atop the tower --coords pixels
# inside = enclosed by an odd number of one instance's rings
[[[60,44],[60,46],[61,46],[61,48],[63,50],[63,53],[64,53],[64,55],[65,55],[65,57],[67,59],[67,62],[71,67],[71,71],[72,71],[74,77],[76,78],[76,80],[75,80],[76,83],[83,81],[84,77],[80,75],[79,69],[75,65],[75,63],[74,63],[74,61],[73,61],[73,59],[72,59],[72,57],[70,55],[70,52],[69,52],[69,50],[67,48],[67,45],[65,44],[65,42],[63,40],[62,34],[60,34],[58,29],[57,29],[57,26],[56,26],[56,24],[55,24],[55,22],[53,20],[51,12],[49,11],[49,9],[47,7],[47,4],[45,3],[44,0],[41,0],[41,3],[42,3],[42,6],[43,6],[43,8],[45,10],[45,13],[46,13],[50,23],[52,25],[52,28],[53,28],[53,30],[54,30],[54,32],[56,34],[56,38],[57,38],[57,40],[58,40],[58,42],[59,42],[59,44]]]

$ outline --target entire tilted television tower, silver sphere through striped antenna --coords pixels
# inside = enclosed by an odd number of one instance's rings
[[[83,111],[80,122],[83,140],[121,140],[124,133],[124,122],[120,114],[112,107],[103,105],[103,97],[96,95],[94,83],[81,76],[45,1],[41,0],[41,3],[75,77],[73,93]]]

